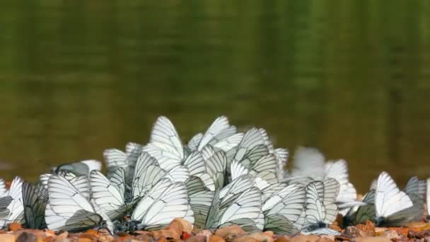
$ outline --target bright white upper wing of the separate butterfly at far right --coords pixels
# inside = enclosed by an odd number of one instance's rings
[[[407,194],[397,188],[388,173],[380,173],[375,192],[376,217],[388,217],[408,207],[412,207],[412,201]]]

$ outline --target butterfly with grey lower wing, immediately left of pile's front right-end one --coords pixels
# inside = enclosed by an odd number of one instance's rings
[[[305,207],[306,191],[302,185],[291,184],[273,195],[263,204],[265,229],[277,234],[296,234],[303,224],[299,221]]]

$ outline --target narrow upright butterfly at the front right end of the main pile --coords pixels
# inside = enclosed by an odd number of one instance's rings
[[[337,184],[337,186],[336,186]],[[303,231],[319,234],[335,221],[338,208],[335,197],[339,192],[339,183],[335,179],[314,181],[306,186],[306,220]],[[334,233],[334,232],[333,232]]]

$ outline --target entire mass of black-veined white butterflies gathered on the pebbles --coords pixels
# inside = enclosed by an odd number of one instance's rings
[[[161,229],[180,217],[202,229],[337,234],[328,226],[339,213],[347,224],[400,226],[420,219],[429,202],[429,181],[412,178],[403,192],[387,173],[357,201],[346,161],[325,162],[318,150],[299,148],[286,172],[288,156],[265,129],[238,132],[226,117],[184,145],[159,117],[149,144],[104,151],[107,175],[90,160],[53,168],[35,184],[17,177],[8,190],[0,180],[0,226],[115,233]]]

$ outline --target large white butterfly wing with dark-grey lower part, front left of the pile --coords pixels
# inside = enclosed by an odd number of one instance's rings
[[[66,178],[52,175],[48,181],[48,195],[45,209],[48,229],[83,231],[100,226],[103,221],[93,204]]]

